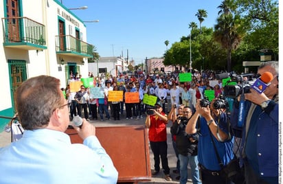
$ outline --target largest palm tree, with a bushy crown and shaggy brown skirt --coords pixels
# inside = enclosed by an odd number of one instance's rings
[[[214,26],[214,39],[227,50],[227,71],[231,71],[231,51],[240,45],[244,36],[240,16],[222,14]]]

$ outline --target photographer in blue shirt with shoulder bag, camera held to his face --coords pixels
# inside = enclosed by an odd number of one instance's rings
[[[188,134],[199,133],[198,159],[203,184],[231,183],[221,172],[218,156],[224,166],[234,159],[234,137],[229,139],[227,115],[223,111],[225,106],[214,108],[215,102],[219,102],[218,99],[212,100],[211,104],[208,100],[198,100],[196,112],[185,128]]]

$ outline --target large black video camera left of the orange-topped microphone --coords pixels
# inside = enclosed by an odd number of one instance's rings
[[[216,79],[220,80],[223,78],[230,77],[231,80],[228,82],[236,82],[236,85],[225,85],[224,95],[225,97],[236,98],[242,93],[250,93],[249,89],[253,85],[253,82],[256,81],[256,78],[253,78],[253,73],[246,73],[238,76],[237,74],[221,73],[221,75],[216,75]],[[247,78],[247,80],[244,80]]]

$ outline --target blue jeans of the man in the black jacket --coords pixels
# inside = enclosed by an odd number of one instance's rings
[[[180,160],[180,183],[187,183],[188,180],[188,163],[190,163],[192,183],[200,184],[201,179],[199,178],[199,161],[197,156],[183,156],[179,154]]]

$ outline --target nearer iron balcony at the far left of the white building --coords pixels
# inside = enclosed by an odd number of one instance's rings
[[[36,50],[45,46],[45,25],[27,17],[2,18],[4,47]]]

